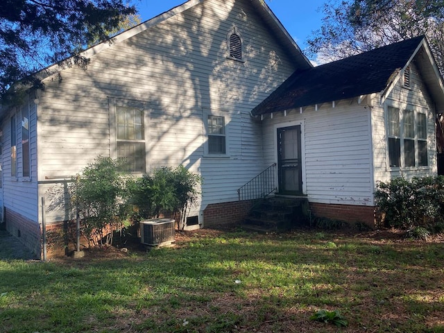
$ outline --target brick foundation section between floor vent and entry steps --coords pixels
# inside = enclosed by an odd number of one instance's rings
[[[246,200],[208,205],[203,211],[204,228],[241,223],[253,203],[253,200]]]

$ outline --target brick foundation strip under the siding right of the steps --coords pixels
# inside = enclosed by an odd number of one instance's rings
[[[310,203],[311,214],[346,221],[349,223],[362,222],[375,228],[375,207],[358,205],[328,205],[324,203]]]

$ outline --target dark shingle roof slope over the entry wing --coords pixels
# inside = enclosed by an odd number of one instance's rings
[[[393,73],[402,69],[423,36],[380,47],[294,72],[278,89],[253,109],[254,115],[280,112],[319,103],[381,92]]]

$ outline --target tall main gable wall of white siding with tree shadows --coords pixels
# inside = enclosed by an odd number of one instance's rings
[[[244,60],[227,58],[233,26]],[[234,202],[264,169],[262,127],[250,110],[296,70],[250,1],[207,0],[44,81],[39,105],[39,196],[99,155],[115,156],[116,105],[144,110],[146,169],[183,164],[203,176],[207,205]],[[207,114],[225,117],[227,154],[207,154]],[[53,195],[51,195],[53,197]],[[64,205],[63,200],[60,201]],[[56,207],[55,205],[53,207]],[[62,221],[62,209],[47,212]],[[209,221],[210,223],[211,221]]]

